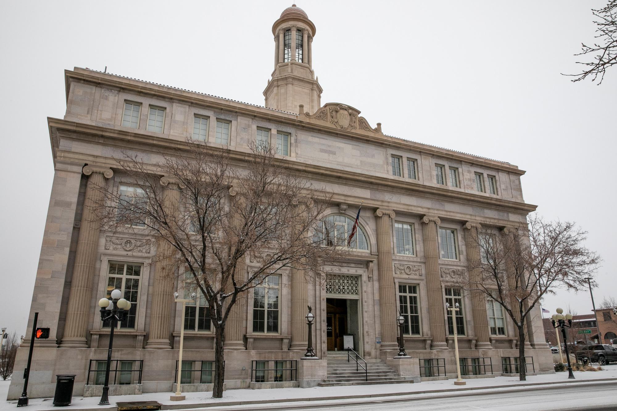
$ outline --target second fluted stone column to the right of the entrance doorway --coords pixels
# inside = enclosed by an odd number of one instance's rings
[[[439,217],[424,215],[422,233],[424,238],[424,259],[426,260],[426,289],[428,291],[428,317],[431,326],[431,349],[447,350],[445,342],[444,298],[441,294],[439,276],[439,244],[437,244],[437,224]]]

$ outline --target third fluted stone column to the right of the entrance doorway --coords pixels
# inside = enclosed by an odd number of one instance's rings
[[[480,248],[478,244],[478,229],[481,228],[479,223],[467,222],[463,226],[465,232],[465,247],[467,250],[467,260],[471,267],[469,280],[472,284],[482,282],[480,275]],[[474,286],[477,288],[477,286]],[[478,290],[471,291],[471,313],[473,315],[473,328],[476,333],[476,349],[491,349],[491,341],[489,339],[489,320],[486,315],[486,297],[484,293]]]

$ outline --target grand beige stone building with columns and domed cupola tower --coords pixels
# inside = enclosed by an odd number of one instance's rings
[[[265,284],[277,303],[265,310],[276,310],[278,322],[254,321],[264,313],[253,304],[238,314],[237,326],[226,333],[227,389],[260,381],[291,379],[298,382],[288,384],[311,386],[334,380],[326,374],[328,362],[335,365],[336,351],[345,344],[353,344],[369,364],[386,363],[391,380],[452,376],[453,328],[445,302],[462,306],[455,316],[461,357],[476,364],[490,359],[499,375],[505,371],[502,361],[518,355],[515,327],[501,307],[454,284],[465,275],[467,262],[480,258],[466,247],[474,230],[487,226],[499,235],[536,209],[523,200],[524,171],[384,135],[380,123],[372,127],[352,106],[321,104],[312,70],[315,31],[295,5],[274,23],[274,71],[263,91],[265,107],[88,68],[65,71],[66,114],[48,118],[55,176],[27,331],[30,336],[39,312],[38,325],[51,328],[51,338],[35,342],[32,397],[51,396],[60,373],[77,374],[75,394],[100,383],[97,360],[106,358],[109,328],[100,321],[97,301],[110,284],[133,303],[130,317],[115,332],[116,385],[124,386],[123,392],[172,390],[182,313],[180,304],[157,297],[175,289],[157,289],[157,265],[149,264],[155,245],[145,231],[122,236],[97,230],[85,205],[100,195],[94,185],[130,196],[134,188],[114,170],[113,158],[122,149],[147,161],[187,137],[238,152],[249,151],[256,139],[276,144],[288,167],[334,193],[328,218],[342,231],[349,230],[364,201],[358,241],[325,286],[283,273]],[[184,323],[182,380],[192,383],[185,391],[207,389],[213,372],[212,327],[198,305],[188,307],[191,319]],[[307,341],[307,305],[315,307],[320,360],[299,360]],[[399,310],[410,359],[393,358]],[[528,331],[527,355],[535,371],[551,372],[539,307]],[[349,335],[353,341],[344,342]],[[25,367],[28,344],[26,338],[16,370]],[[444,367],[425,367],[433,364]],[[297,375],[259,371],[271,367],[296,367]],[[16,372],[9,399],[19,397],[22,386],[22,373]]]

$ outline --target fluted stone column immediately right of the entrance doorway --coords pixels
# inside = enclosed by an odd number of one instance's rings
[[[397,349],[396,342],[396,290],[392,268],[392,218],[394,211],[378,209],[377,221],[377,266],[379,269],[379,317],[381,318],[381,349]]]

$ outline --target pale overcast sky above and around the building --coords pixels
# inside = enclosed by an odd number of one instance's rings
[[[594,36],[589,1],[309,1],[325,102],[384,133],[518,165],[526,202],[579,223],[615,296],[617,68],[571,83]],[[271,27],[290,1],[6,1],[0,13],[0,326],[25,332],[54,174],[47,117],[63,70],[89,67],[263,105]],[[611,171],[613,170],[613,171]],[[543,303],[590,313],[589,292]],[[94,307],[93,307],[94,309]]]

